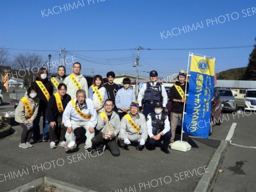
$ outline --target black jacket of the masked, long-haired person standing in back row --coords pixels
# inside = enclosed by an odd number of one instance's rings
[[[38,77],[35,79],[35,81],[41,81],[44,84],[44,87],[47,89],[47,91],[49,92],[50,96],[52,96],[53,93],[53,87],[52,87],[52,83],[50,81],[48,81],[48,79],[39,79]],[[37,87],[38,89],[38,93],[37,93],[37,97],[40,99],[39,102],[39,106],[40,105],[47,105],[48,101],[46,99],[46,97],[44,96],[43,91],[41,90],[41,88],[38,86],[38,84],[36,82],[32,82],[31,85],[34,85]]]

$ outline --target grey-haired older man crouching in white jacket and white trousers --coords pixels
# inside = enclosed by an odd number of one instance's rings
[[[94,128],[97,124],[97,112],[93,101],[86,98],[85,90],[76,91],[76,99],[71,99],[63,113],[62,121],[71,133],[76,128],[86,130],[85,151],[93,153],[91,139],[94,137]]]

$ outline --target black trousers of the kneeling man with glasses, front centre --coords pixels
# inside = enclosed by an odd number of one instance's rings
[[[115,138],[113,138],[112,140],[105,140],[105,139],[103,139],[102,133],[100,132],[98,135],[96,135],[95,137],[92,138],[92,143],[93,143],[93,147],[104,144],[104,145],[108,146],[108,148],[113,156],[120,155],[119,146],[118,146]]]

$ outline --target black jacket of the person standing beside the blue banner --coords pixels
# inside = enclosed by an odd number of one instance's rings
[[[180,83],[178,81],[175,84],[180,86]],[[186,86],[186,81],[185,81],[184,85],[180,86],[181,89],[184,91],[184,93],[185,93],[185,86]],[[187,89],[186,90],[189,90],[189,82],[187,82]],[[186,93],[188,93],[188,92],[186,92]],[[169,96],[169,101],[172,102],[171,112],[183,113],[184,103],[173,102],[173,99],[182,99],[182,97],[180,96],[180,93],[177,91],[177,89],[174,85],[171,87],[170,96]]]

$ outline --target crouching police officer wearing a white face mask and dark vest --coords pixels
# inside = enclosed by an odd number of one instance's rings
[[[163,140],[161,151],[169,154],[168,144],[171,139],[170,122],[168,116],[163,111],[162,102],[156,102],[154,112],[148,114],[147,130],[148,130],[148,149],[154,150],[157,143]]]

